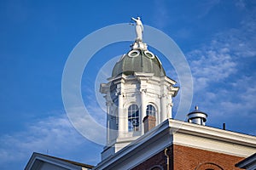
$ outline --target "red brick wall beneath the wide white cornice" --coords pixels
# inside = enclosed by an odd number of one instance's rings
[[[241,168],[235,167],[235,164],[244,159],[244,157],[230,156],[177,144],[170,146],[167,154],[170,156],[170,170],[241,170]],[[153,167],[167,169],[165,150],[161,150],[132,170],[150,170]]]

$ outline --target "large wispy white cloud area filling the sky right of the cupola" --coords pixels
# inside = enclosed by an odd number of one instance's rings
[[[256,57],[256,13],[245,12],[240,27],[216,33],[187,58],[194,77],[194,102],[209,111],[209,121],[229,122],[232,130],[240,132],[246,128],[241,124],[251,125],[247,133],[255,135],[256,71],[252,64]]]

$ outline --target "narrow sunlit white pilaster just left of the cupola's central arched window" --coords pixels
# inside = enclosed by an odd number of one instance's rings
[[[125,132],[125,114],[123,108],[123,94],[119,94],[119,137]]]

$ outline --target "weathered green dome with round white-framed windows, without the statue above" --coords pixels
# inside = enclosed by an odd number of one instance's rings
[[[154,73],[154,77],[166,76],[166,71],[157,56],[143,49],[132,49],[129,53],[124,54],[114,65],[112,77],[121,74],[133,75],[134,72]]]

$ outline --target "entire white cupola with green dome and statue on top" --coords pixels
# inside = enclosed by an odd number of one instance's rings
[[[107,105],[107,143],[102,160],[172,118],[172,98],[179,89],[143,42],[141,20],[134,20],[137,38],[100,88]]]

